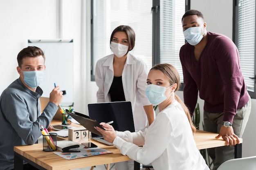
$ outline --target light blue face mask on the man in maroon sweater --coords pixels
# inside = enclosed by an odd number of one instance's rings
[[[198,44],[203,38],[200,26],[190,27],[183,31],[183,34],[190,45]]]

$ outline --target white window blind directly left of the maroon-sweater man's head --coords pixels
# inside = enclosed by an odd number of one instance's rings
[[[182,31],[182,16],[185,13],[185,0],[160,0],[160,63],[169,63],[180,73],[180,48],[185,43]]]

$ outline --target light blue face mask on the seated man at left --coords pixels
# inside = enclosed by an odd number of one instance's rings
[[[45,71],[23,71],[24,82],[31,88],[39,86],[43,80]]]

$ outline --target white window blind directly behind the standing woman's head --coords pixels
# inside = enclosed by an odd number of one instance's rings
[[[92,75],[96,62],[112,53],[110,36],[119,25],[135,31],[135,47],[130,53],[152,67],[152,1],[148,0],[93,0]]]

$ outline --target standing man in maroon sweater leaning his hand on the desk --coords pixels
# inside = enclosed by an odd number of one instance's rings
[[[189,10],[182,17],[187,43],[180,49],[184,76],[184,103],[191,116],[204,100],[204,128],[219,133],[227,146],[212,148],[213,170],[234,158],[235,140],[242,137],[251,111],[251,98],[241,72],[236,45],[225,35],[206,31],[201,12]]]

